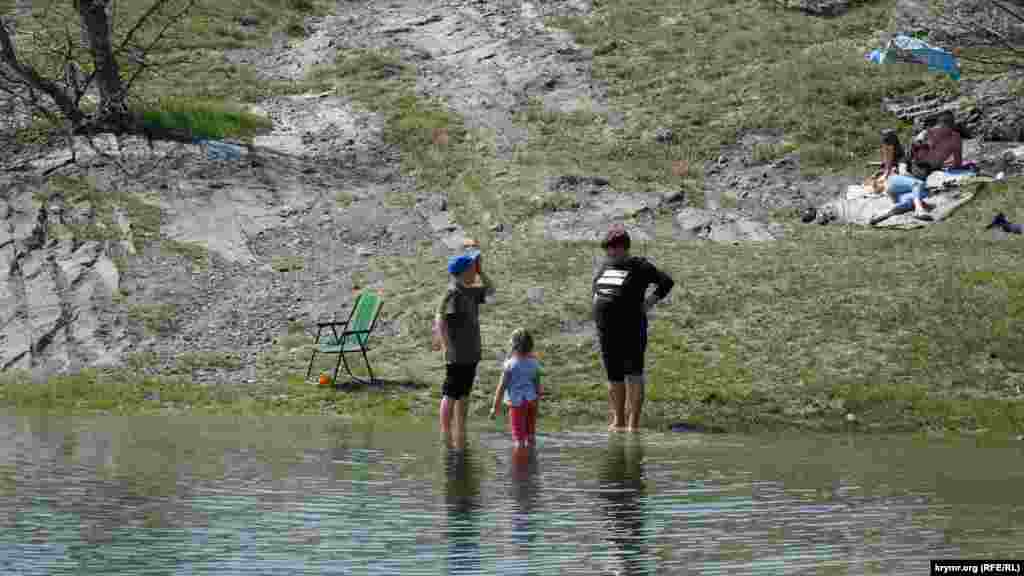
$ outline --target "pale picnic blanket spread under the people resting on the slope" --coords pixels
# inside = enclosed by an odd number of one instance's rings
[[[978,176],[974,171],[945,170],[933,172],[928,177],[928,198],[925,201],[935,209],[930,212],[933,221],[923,221],[913,217],[913,212],[890,216],[874,228],[897,230],[913,230],[942,221],[957,208],[974,199],[974,189],[963,184],[972,181],[990,180]],[[856,184],[847,189],[846,196],[826,203],[821,210],[828,210],[835,215],[835,221],[870,225],[873,216],[882,214],[893,207],[893,201],[886,194],[874,194],[870,188]]]

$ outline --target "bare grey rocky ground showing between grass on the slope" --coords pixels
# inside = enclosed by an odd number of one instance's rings
[[[507,157],[528,139],[514,119],[531,98],[622,122],[591,77],[591,54],[543,23],[589,10],[584,0],[342,2],[296,46],[229,57],[288,79],[346,47],[397,49],[417,66],[421,93],[489,130]],[[48,182],[39,172],[67,152],[8,159],[17,169],[0,174],[0,369],[45,377],[128,363],[153,372],[185,366],[199,381],[253,381],[260,354],[290,326],[345,310],[356,285],[383,282],[360,264],[368,255],[409,254],[432,242],[441,256],[461,245],[439,192],[417,196],[412,208],[386,201],[416,187],[383,143],[381,118],[329,94],[272,97],[258,108],[273,131],[226,157],[137,141],[106,142],[100,156],[80,142],[76,177]],[[641,238],[666,219],[679,238],[777,238],[769,215],[850,183],[802,178],[794,154],[755,159],[756,145],[780,137],[750,134],[706,166],[702,209],[683,208],[678,194],[614,191],[600,175],[555,178],[549,191],[579,201],[546,215],[540,230],[594,238],[610,220],[639,213]],[[381,329],[412,328],[385,320]],[[188,369],[197,355],[207,356]]]

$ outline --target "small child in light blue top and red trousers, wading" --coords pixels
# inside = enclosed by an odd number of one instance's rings
[[[495,418],[502,398],[509,406],[509,424],[517,448],[532,445],[537,430],[537,400],[541,397],[541,364],[534,355],[534,337],[518,329],[512,333],[512,353],[505,361],[495,389],[490,418]]]

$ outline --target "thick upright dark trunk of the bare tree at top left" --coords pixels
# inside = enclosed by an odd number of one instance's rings
[[[78,12],[89,38],[96,68],[100,117],[123,117],[128,112],[121,71],[114,57],[113,25],[108,7],[111,0],[78,0]]]

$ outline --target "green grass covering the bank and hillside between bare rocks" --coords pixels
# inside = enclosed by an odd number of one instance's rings
[[[383,115],[384,137],[401,151],[403,170],[422,190],[446,191],[457,220],[483,243],[499,299],[482,311],[473,417],[486,413],[508,334],[526,326],[548,374],[544,423],[569,426],[605,416],[603,370],[586,330],[599,250],[530,231],[535,216],[574,202],[548,193],[546,178],[594,174],[620,190],[699,190],[701,163],[751,131],[783,135],[782,145],[756,149],[757,161],[797,153],[809,173],[862,167],[876,153],[878,130],[896,124],[880,112],[884,96],[955,92],[941,75],[862,61],[892,4],[859,4],[821,19],[757,2],[608,0],[589,18],[556,20],[595,49],[595,74],[608,85],[611,107],[629,112],[626,126],[593,110],[553,113],[527,102],[518,120],[530,139],[511,160],[496,159],[486,134],[467,129],[443,102],[418,96],[415,69],[393,53],[345,52],[292,86],[336,89]],[[200,78],[195,97],[238,88],[246,74],[234,68],[220,81]],[[645,135],[657,126],[672,128],[678,143]],[[674,173],[679,161],[690,171]],[[1021,188],[1020,180],[989,186],[948,221],[912,233],[791,222],[781,241],[732,246],[668,240],[671,224],[663,224],[666,240],[638,247],[678,283],[651,324],[648,424],[1024,433],[1019,250],[979,230],[1015,205]],[[522,229],[499,238],[489,233],[494,221]],[[157,224],[159,236],[159,217]],[[384,315],[401,327],[376,341],[371,361],[379,375],[413,387],[337,394],[303,382],[311,338],[297,324],[260,359],[267,383],[259,386],[129,384],[123,375],[84,373],[72,384],[7,380],[0,401],[52,410],[432,417],[443,367],[427,342],[446,281],[442,262],[424,249],[371,256],[366,270],[385,275]],[[544,289],[543,302],[527,300],[532,287]],[[144,310],[135,318],[159,328],[172,316]],[[314,374],[333,367],[334,358],[324,358]],[[145,400],[145,390],[164,386],[170,392],[161,403]]]

